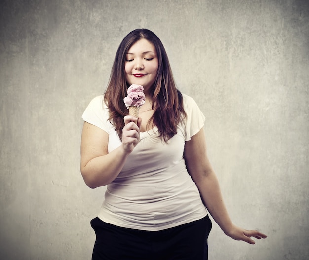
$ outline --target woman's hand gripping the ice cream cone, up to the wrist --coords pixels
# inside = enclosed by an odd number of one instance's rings
[[[142,118],[136,119],[136,117],[126,115],[123,120],[125,126],[122,129],[122,147],[125,151],[130,153],[140,141],[140,126]]]

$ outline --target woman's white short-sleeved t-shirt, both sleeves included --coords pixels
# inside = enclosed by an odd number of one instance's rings
[[[187,117],[167,144],[158,138],[157,127],[140,133],[140,142],[119,175],[107,186],[98,216],[104,222],[157,231],[207,215],[183,157],[185,141],[203,127],[205,117],[191,97],[183,94],[183,98]],[[109,134],[109,152],[121,145],[108,120],[103,95],[90,102],[82,118]]]

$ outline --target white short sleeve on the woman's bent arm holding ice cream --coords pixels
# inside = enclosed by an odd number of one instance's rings
[[[92,99],[81,117],[84,121],[101,128],[107,133],[111,129],[108,108],[103,104],[103,95]]]

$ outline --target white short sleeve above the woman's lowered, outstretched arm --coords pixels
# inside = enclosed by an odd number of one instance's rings
[[[182,94],[184,98],[184,108],[187,113],[186,120],[186,141],[189,141],[191,137],[198,133],[204,126],[205,116],[197,106],[193,98]]]

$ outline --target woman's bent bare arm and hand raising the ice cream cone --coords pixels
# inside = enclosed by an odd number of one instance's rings
[[[80,146],[80,172],[87,186],[96,188],[112,182],[120,173],[128,155],[139,142],[141,119],[124,117],[122,145],[108,153],[109,135],[84,122]]]

